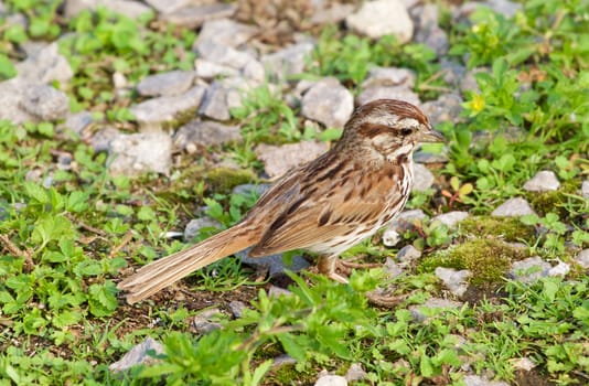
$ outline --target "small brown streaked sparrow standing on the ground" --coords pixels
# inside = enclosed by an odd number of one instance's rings
[[[319,270],[345,282],[335,272],[338,256],[403,210],[416,144],[442,140],[416,106],[395,99],[367,103],[354,111],[336,144],[282,178],[237,225],[150,262],[118,288],[135,303],[248,247],[250,257],[318,253]]]

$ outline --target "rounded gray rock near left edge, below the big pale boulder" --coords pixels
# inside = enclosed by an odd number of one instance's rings
[[[67,95],[45,85],[29,87],[24,92],[21,106],[40,120],[63,119],[69,112]]]

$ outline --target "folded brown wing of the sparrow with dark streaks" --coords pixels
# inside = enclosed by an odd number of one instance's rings
[[[269,224],[249,255],[256,257],[309,248],[360,228],[373,229],[387,205],[404,200],[398,184],[403,169],[397,167],[395,170],[398,173],[356,170],[342,178],[317,182],[318,189],[307,195],[301,189],[297,199],[290,201],[290,206],[283,207]]]

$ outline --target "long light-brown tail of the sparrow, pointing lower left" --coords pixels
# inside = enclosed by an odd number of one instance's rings
[[[127,302],[132,304],[182,279],[196,269],[243,250],[258,243],[258,232],[242,223],[185,250],[141,267],[135,275],[119,282],[117,287],[128,292]]]

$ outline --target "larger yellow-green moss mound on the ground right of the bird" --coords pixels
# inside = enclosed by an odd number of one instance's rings
[[[419,270],[430,272],[437,267],[469,269],[472,272],[470,282],[482,285],[501,281],[512,261],[526,257],[528,254],[523,248],[495,238],[476,238],[427,257]]]

